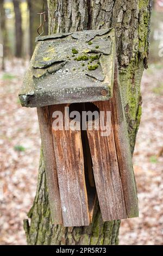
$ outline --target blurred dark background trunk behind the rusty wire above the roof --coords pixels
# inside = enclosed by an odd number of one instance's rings
[[[29,54],[32,56],[35,48],[35,38],[37,34],[37,28],[40,25],[40,15],[42,13],[43,1],[42,0],[27,0],[29,9]],[[44,11],[47,11],[47,1],[45,1]],[[45,24],[45,35],[48,33],[48,23]]]

